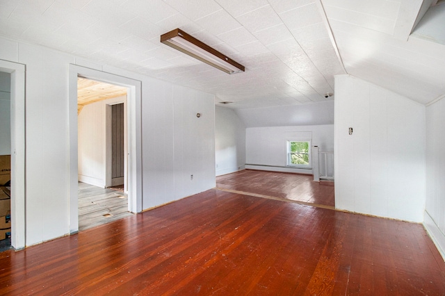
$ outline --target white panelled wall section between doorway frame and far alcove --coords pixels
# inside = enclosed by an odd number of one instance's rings
[[[154,79],[143,94],[143,207],[215,187],[213,95]]]

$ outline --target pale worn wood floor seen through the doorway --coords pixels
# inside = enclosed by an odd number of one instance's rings
[[[79,231],[133,215],[124,192],[79,182]]]

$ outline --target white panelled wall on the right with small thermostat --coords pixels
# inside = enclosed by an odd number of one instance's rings
[[[425,107],[352,76],[335,94],[335,206],[422,222]]]

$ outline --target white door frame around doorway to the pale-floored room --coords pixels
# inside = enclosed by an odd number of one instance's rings
[[[128,209],[140,213],[142,204],[142,140],[141,140],[141,82],[70,64],[69,107],[70,120],[70,233],[79,231],[78,170],[77,170],[77,77],[104,81],[127,87],[127,157],[128,157]]]

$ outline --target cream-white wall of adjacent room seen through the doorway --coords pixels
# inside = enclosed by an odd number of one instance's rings
[[[78,120],[79,181],[106,188],[106,106],[123,102],[115,97],[84,106]]]

